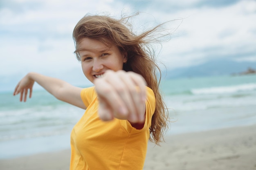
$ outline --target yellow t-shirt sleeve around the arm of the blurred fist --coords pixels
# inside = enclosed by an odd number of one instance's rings
[[[151,88],[147,88],[147,99],[146,99],[146,115],[145,115],[145,123],[142,129],[136,129],[132,127],[130,122],[128,120],[119,120],[121,126],[125,130],[127,130],[128,133],[134,134],[141,132],[143,130],[148,130],[148,128],[151,126],[151,119],[153,114],[155,113],[155,95]]]

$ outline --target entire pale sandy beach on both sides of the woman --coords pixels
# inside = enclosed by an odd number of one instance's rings
[[[1,170],[68,170],[70,150],[1,159]],[[148,145],[144,170],[256,170],[256,125],[166,137]]]

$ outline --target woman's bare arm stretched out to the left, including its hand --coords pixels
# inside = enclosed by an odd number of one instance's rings
[[[80,96],[82,88],[72,86],[61,79],[48,77],[38,73],[28,73],[25,77],[23,77],[17,84],[13,95],[18,95],[20,93],[20,102],[26,102],[28,91],[29,98],[32,96],[34,82],[37,82],[57,99],[86,109]]]

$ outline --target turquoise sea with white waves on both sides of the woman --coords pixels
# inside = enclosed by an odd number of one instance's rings
[[[166,135],[256,124],[256,75],[163,79],[171,120]],[[84,111],[34,90],[19,102],[0,92],[0,159],[70,148],[70,133]]]

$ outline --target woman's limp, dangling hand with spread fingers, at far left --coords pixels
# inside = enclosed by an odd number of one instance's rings
[[[17,84],[13,95],[18,95],[20,93],[20,102],[27,101],[27,93],[29,90],[29,98],[31,98],[32,96],[32,88],[34,85],[34,80],[30,79],[28,75],[26,75],[25,77],[23,77],[20,82]]]

